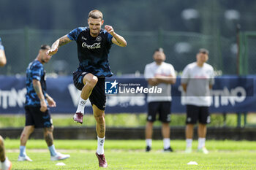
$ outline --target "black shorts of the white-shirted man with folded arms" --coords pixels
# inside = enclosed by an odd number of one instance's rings
[[[157,113],[159,113],[159,120],[162,123],[170,123],[170,109],[171,101],[152,101],[148,103],[148,122],[157,120]]]

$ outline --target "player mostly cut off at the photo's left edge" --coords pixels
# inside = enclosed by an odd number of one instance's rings
[[[7,59],[4,53],[4,46],[1,45],[0,38],[0,66],[4,66],[7,63]],[[4,139],[0,136],[0,161],[1,161],[1,170],[10,170],[12,168],[12,163],[5,156],[4,149]]]

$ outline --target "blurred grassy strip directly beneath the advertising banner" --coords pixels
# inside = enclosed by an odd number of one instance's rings
[[[256,121],[256,115],[248,115],[248,123],[250,120]],[[52,114],[53,125],[56,127],[64,126],[77,126],[72,120],[72,115],[56,115]],[[106,114],[105,122],[108,127],[138,127],[146,125],[146,114]],[[171,123],[173,126],[184,126],[186,120],[186,115],[184,114],[173,114],[171,115]],[[256,123],[256,122],[255,122]],[[82,126],[95,125],[95,120],[93,115],[85,115],[84,123]],[[222,114],[211,115],[211,124],[208,126],[222,127],[223,125],[229,127],[236,127],[237,117],[236,114],[227,114],[227,119],[224,121]],[[25,125],[25,115],[0,115],[0,128],[8,127],[23,127]],[[161,123],[156,121],[154,125],[159,126]]]

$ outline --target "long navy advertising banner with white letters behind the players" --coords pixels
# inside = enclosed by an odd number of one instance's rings
[[[222,76],[215,78],[211,91],[211,112],[256,112],[256,76]],[[0,76],[0,113],[24,113],[26,77]],[[75,88],[72,77],[47,79],[47,93],[56,101],[52,113],[74,113],[78,105],[80,91]],[[161,86],[148,87],[143,77],[110,77],[105,80],[107,95],[106,113],[147,112],[147,95],[169,96]],[[184,113],[184,92],[181,79],[171,86],[172,112]],[[86,103],[86,113],[92,113],[90,101]]]

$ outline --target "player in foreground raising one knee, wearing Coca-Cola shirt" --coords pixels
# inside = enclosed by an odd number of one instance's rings
[[[73,119],[78,123],[83,123],[84,107],[89,98],[97,121],[97,158],[100,167],[107,167],[108,163],[104,155],[105,142],[105,77],[111,77],[108,63],[108,55],[112,44],[125,47],[125,39],[116,34],[112,26],[105,25],[102,12],[92,10],[89,12],[88,27],[79,27],[69,34],[62,36],[53,43],[49,50],[49,55],[57,53],[59,47],[69,42],[76,41],[78,45],[79,67],[73,72],[74,85],[81,90],[78,109]]]

